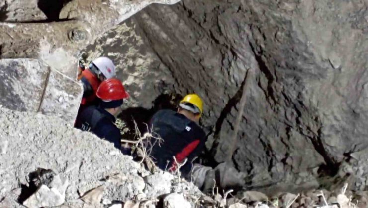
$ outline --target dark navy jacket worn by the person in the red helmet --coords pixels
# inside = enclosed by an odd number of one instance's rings
[[[97,106],[83,109],[77,118],[75,127],[82,131],[90,131],[101,139],[114,143],[121,150],[120,130],[115,126],[115,117]]]

